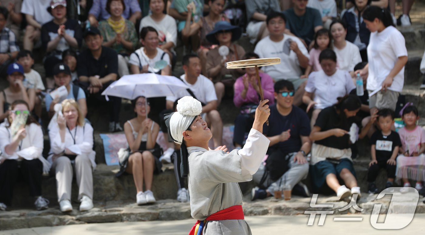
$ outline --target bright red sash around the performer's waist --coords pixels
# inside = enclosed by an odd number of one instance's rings
[[[189,235],[202,235],[202,230],[204,229],[204,223],[206,221],[243,219],[245,219],[245,217],[244,210],[242,210],[242,205],[230,206],[229,208],[215,212],[214,214],[208,216],[204,221],[196,221],[196,224],[193,225],[192,229],[190,229]]]

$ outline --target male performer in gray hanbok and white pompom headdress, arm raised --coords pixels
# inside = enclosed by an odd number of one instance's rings
[[[237,182],[251,181],[266,154],[270,141],[262,131],[270,115],[268,101],[258,105],[244,148],[230,153],[224,152],[225,146],[209,150],[212,134],[199,115],[201,102],[193,97],[178,100],[177,112],[165,117],[170,136],[181,144],[181,173],[189,175],[190,209],[198,220],[190,235],[202,234],[199,230],[204,235],[252,234],[244,220]]]

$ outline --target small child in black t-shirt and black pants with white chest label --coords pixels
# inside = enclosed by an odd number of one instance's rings
[[[370,139],[372,160],[369,163],[368,182],[369,193],[379,190],[374,183],[382,168],[387,170],[388,181],[385,188],[393,186],[396,173],[396,157],[401,146],[400,136],[392,131],[394,112],[391,109],[381,109],[378,112],[378,123],[381,130],[374,132]]]

